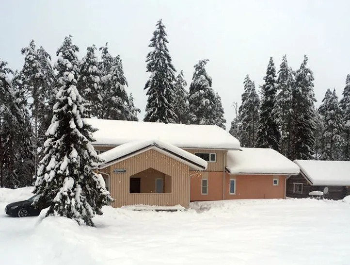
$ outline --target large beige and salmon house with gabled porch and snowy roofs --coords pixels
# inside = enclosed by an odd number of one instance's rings
[[[112,206],[285,198],[299,167],[271,149],[240,149],[218,126],[87,119]]]

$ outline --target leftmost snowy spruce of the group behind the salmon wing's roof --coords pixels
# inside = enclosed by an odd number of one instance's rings
[[[239,106],[239,141],[242,147],[256,146],[256,131],[259,125],[260,99],[255,90],[255,83],[244,79],[242,104]]]

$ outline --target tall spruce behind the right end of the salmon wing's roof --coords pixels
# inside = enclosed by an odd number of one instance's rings
[[[315,147],[315,94],[314,75],[306,67],[307,56],[295,74],[292,87],[293,121],[290,159],[310,160],[314,158]]]

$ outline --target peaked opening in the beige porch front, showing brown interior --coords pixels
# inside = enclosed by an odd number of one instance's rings
[[[154,168],[130,176],[130,193],[171,193],[172,177]]]

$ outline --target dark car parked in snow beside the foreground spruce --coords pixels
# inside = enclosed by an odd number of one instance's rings
[[[35,199],[35,196],[32,196],[29,199],[16,201],[6,205],[5,213],[11,216],[26,217],[26,216],[37,216],[40,214],[42,209],[35,209],[32,205],[32,202]]]

